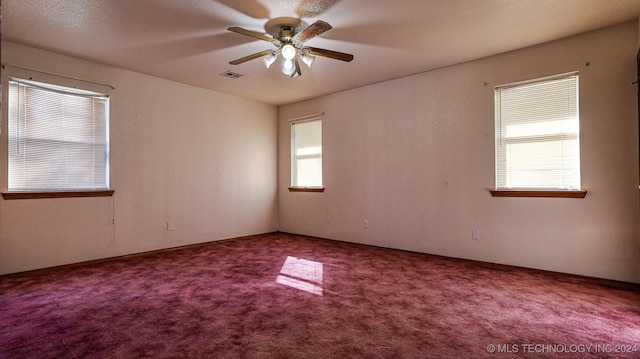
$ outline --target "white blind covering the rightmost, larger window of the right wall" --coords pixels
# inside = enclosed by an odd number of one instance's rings
[[[580,190],[578,74],[495,89],[496,189]]]

